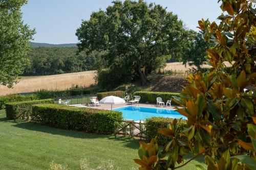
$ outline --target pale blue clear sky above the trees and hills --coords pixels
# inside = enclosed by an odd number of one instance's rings
[[[76,43],[76,29],[93,11],[105,9],[113,0],[28,0],[22,8],[24,23],[36,29],[33,42]],[[186,27],[198,31],[198,20],[210,21],[221,14],[217,0],[146,0],[167,7]]]

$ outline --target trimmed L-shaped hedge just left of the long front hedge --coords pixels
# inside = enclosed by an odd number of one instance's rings
[[[40,103],[53,103],[53,99],[45,99],[45,100],[33,100],[33,101],[22,101],[22,102],[13,102],[13,103],[6,103],[6,117],[9,119],[25,119],[28,118],[30,115],[30,112],[24,112],[23,115],[19,115],[19,108],[26,108],[31,109],[32,105],[40,104]]]

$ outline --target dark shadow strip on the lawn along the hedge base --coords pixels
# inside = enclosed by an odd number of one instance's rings
[[[8,120],[8,119],[7,119]],[[15,123],[14,120],[8,121]],[[74,138],[81,138],[81,139],[109,139],[121,142],[124,147],[131,148],[131,149],[138,149],[139,148],[139,140],[129,138],[129,137],[115,137],[114,135],[99,135],[99,134],[92,134],[80,131],[72,131],[72,130],[62,130],[53,127],[43,126],[40,124],[32,123],[32,122],[16,122],[15,125],[12,125],[16,128],[22,128],[31,131],[37,132],[44,132],[53,135],[62,135]]]

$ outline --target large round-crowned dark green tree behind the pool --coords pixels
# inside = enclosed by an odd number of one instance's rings
[[[147,74],[163,66],[159,61],[181,56],[189,37],[177,15],[142,0],[114,1],[82,21],[76,35],[80,51],[107,51],[104,59],[110,68],[125,66],[120,74],[132,72],[143,84]]]

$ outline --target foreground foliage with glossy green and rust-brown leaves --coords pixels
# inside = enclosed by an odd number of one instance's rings
[[[177,111],[187,117],[187,129],[177,129],[178,120],[160,129],[159,133],[172,137],[161,151],[154,139],[141,143],[140,159],[135,160],[140,169],[176,169],[200,155],[210,170],[255,169],[255,4],[222,0],[221,9],[226,14],[218,17],[219,25],[199,21],[205,40],[217,42],[207,50],[213,68],[189,75],[188,85],[174,98],[182,106]],[[232,65],[229,74],[222,71],[224,61]],[[248,86],[252,90],[244,90]],[[183,163],[188,154],[194,157]]]

